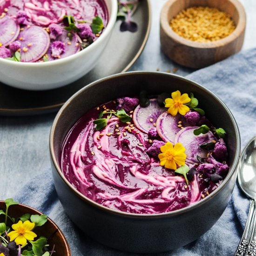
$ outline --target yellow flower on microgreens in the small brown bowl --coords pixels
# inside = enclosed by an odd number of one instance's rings
[[[19,221],[16,224],[12,225],[12,228],[14,231],[11,231],[8,233],[8,236],[10,237],[10,241],[13,241],[18,244],[25,244],[27,243],[27,240],[34,240],[36,237],[36,234],[32,232],[31,230],[34,229],[34,222],[25,221],[24,223],[22,221]]]

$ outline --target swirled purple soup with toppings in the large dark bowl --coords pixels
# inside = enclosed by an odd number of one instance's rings
[[[75,189],[110,209],[158,214],[192,205],[221,184],[229,171],[227,148],[204,113],[191,108],[173,116],[156,98],[149,103],[117,99],[75,123],[60,157]]]

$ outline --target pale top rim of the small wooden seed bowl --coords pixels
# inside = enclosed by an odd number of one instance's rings
[[[242,3],[239,0],[225,0],[227,2],[231,2],[236,11],[238,12],[238,23],[236,24],[235,30],[229,34],[228,36],[211,42],[195,42],[189,39],[186,39],[177,33],[175,33],[172,28],[169,26],[168,20],[168,10],[171,6],[179,0],[168,0],[164,6],[162,7],[161,14],[160,14],[160,26],[162,27],[164,33],[169,37],[175,40],[176,42],[193,48],[217,48],[222,47],[223,45],[227,45],[232,41],[236,40],[245,30],[246,26],[246,13]],[[193,5],[192,5],[193,6]]]

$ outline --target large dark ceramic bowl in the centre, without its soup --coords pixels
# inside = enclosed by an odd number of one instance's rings
[[[181,90],[193,92],[213,125],[228,136],[230,171],[209,196],[184,209],[162,214],[131,214],[108,209],[88,199],[67,181],[61,172],[63,140],[74,123],[89,109],[118,97]],[[95,81],[74,94],[57,114],[50,132],[50,153],[54,183],[61,203],[71,220],[88,236],[115,249],[154,253],[181,247],[194,241],[222,215],[236,182],[240,135],[226,105],[208,89],[181,76],[160,72],[116,74]]]

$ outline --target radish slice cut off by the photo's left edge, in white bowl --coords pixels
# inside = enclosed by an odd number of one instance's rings
[[[8,46],[12,43],[20,33],[20,26],[13,18],[4,16],[0,19],[0,43]]]

